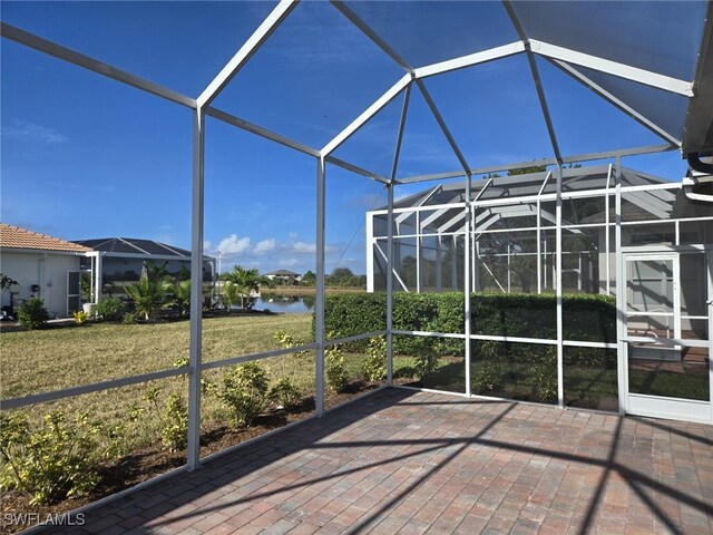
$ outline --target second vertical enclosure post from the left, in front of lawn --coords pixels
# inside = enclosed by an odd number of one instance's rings
[[[315,412],[324,414],[324,157],[316,158],[316,300],[314,307],[314,341],[316,362],[314,378]]]

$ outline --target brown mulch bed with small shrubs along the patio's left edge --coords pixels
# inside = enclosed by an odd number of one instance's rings
[[[345,392],[328,392],[324,400],[325,408],[336,407],[360,393],[375,389],[378,386],[379,383],[359,381],[350,385]],[[290,410],[272,410],[261,415],[252,427],[245,429],[232,429],[224,421],[206,422],[201,427],[201,457],[245,442],[293,421],[305,419],[313,412],[314,399],[306,398]],[[7,515],[36,514],[41,519],[47,518],[48,515],[61,515],[178,468],[185,463],[185,451],[172,453],[165,449],[160,442],[156,442],[131,451],[116,463],[102,466],[99,485],[89,496],[82,498],[69,498],[52,505],[30,505],[29,495],[13,490],[4,492],[0,497],[0,533],[17,533],[25,527],[30,527],[29,524],[17,525],[8,522],[9,516]],[[32,522],[32,525],[35,523]]]

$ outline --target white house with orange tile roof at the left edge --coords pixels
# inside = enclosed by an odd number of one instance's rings
[[[0,271],[18,282],[2,292],[2,307],[38,296],[50,315],[81,310],[79,273],[87,254],[87,246],[0,223]]]

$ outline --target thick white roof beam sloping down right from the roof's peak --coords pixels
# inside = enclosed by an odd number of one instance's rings
[[[606,72],[608,75],[618,76],[627,80],[637,81],[646,86],[657,87],[665,91],[676,93],[684,97],[693,97],[693,82],[678,80],[670,76],[660,75],[649,70],[639,69],[629,65],[619,64],[609,59],[598,58],[584,52],[577,52],[568,48],[558,47],[548,42],[529,40],[530,49],[540,56],[560,59],[568,64],[580,65],[589,69]]]

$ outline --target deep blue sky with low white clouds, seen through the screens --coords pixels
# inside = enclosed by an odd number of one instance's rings
[[[2,20],[196,97],[273,6],[2,2]],[[499,3],[354,9],[414,65],[517,38]],[[394,16],[398,23],[383,23]],[[486,16],[494,22],[468,22]],[[445,37],[453,25],[469,30],[465,39]],[[189,247],[191,111],[8,40],[0,54],[2,221],[68,240],[129,236]],[[538,60],[538,67],[564,153],[661,143],[549,64]],[[335,9],[304,2],[215,106],[321,148],[400,76]],[[427,86],[471,166],[551,156],[525,57]],[[394,99],[336,155],[388,174],[401,103]],[[675,153],[626,164],[671,179],[685,171]],[[458,168],[412,91],[399,175]],[[208,119],[206,251],[225,253],[224,270],[235,263],[263,272],[313,270],[314,183],[312,158]],[[339,263],[364,272],[364,212],[384,202],[380,184],[328,169],[328,271]]]

